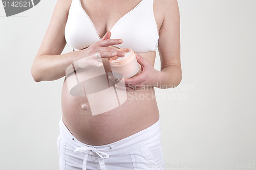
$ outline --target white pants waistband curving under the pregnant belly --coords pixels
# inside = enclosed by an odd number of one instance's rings
[[[74,147],[93,147],[96,149],[111,148],[112,152],[120,149],[131,148],[135,145],[143,145],[159,140],[161,138],[161,124],[160,118],[158,121],[150,127],[143,129],[131,136],[125,137],[113,143],[104,145],[90,145],[77,140],[68,130],[66,125],[63,123],[62,115],[59,121],[60,135],[66,138],[68,142],[72,143]]]

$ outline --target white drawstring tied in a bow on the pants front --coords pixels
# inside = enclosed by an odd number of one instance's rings
[[[111,149],[111,147],[100,148],[100,150],[106,150],[106,149]],[[82,170],[86,170],[87,157],[90,153],[96,153],[100,157],[98,159],[100,169],[101,170],[106,170],[105,163],[104,163],[103,159],[109,158],[109,154],[107,154],[105,152],[101,152],[101,151],[97,150],[97,148],[87,147],[87,146],[86,147],[78,147],[78,148],[75,149],[74,152],[77,153],[77,154],[80,154],[80,153],[86,154],[83,158]]]

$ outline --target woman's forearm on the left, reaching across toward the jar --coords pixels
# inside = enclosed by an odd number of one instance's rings
[[[36,82],[52,81],[66,76],[66,68],[78,60],[80,51],[62,55],[40,55],[34,60],[31,74]]]

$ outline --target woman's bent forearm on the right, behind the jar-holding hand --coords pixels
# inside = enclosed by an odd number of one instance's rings
[[[164,67],[161,71],[157,71],[156,86],[157,88],[175,88],[182,79],[181,68],[176,65]]]

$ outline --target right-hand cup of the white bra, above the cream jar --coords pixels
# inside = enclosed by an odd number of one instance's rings
[[[115,45],[119,48],[129,47],[137,53],[154,51],[158,33],[152,18],[151,3],[142,4],[141,8],[123,16],[112,28],[111,38],[122,39],[123,43]],[[148,10],[143,10],[148,9]]]

